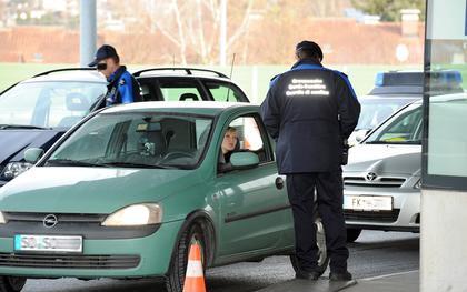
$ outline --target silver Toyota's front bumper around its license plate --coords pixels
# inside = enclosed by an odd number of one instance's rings
[[[346,188],[344,195],[387,195],[394,199],[393,211],[344,210],[348,228],[410,232],[420,230],[420,191],[417,189]]]

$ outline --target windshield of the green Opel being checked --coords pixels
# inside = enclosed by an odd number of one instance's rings
[[[46,161],[54,167],[193,169],[212,119],[176,113],[101,113]]]

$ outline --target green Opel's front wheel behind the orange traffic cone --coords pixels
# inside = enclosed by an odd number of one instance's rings
[[[198,242],[201,246],[201,262],[206,270],[206,244],[205,236],[200,225],[192,224],[180,236],[177,249],[173,254],[169,273],[166,276],[166,288],[168,292],[182,292],[185,283],[185,273],[187,272],[188,253],[192,243]]]

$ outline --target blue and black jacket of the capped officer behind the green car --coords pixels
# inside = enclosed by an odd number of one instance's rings
[[[121,66],[107,81],[109,82],[106,95],[106,105],[131,103],[139,101],[138,81]]]

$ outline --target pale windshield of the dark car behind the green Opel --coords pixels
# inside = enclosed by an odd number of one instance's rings
[[[106,93],[105,83],[24,82],[0,95],[2,129],[70,128]]]

